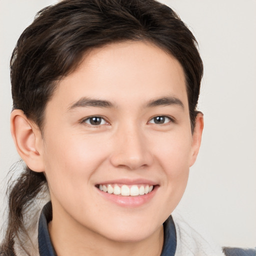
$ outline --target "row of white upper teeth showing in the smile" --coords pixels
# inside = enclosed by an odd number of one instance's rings
[[[106,193],[115,194],[119,196],[140,196],[150,193],[154,189],[154,185],[139,184],[139,185],[126,185],[126,184],[98,184],[96,187]]]

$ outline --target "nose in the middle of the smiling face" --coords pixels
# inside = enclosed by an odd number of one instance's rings
[[[113,148],[110,161],[115,167],[134,170],[152,164],[153,157],[147,137],[135,125],[118,129]]]

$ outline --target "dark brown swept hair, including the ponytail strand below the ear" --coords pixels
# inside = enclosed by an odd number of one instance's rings
[[[202,77],[196,40],[178,15],[155,0],[62,0],[40,10],[19,37],[10,61],[13,108],[43,131],[45,105],[61,77],[72,72],[91,48],[145,40],[182,65],[191,130]],[[23,211],[46,183],[28,167],[12,185],[5,244],[23,229]]]

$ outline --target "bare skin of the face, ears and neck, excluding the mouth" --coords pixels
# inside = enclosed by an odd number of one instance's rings
[[[84,97],[111,106],[87,106]],[[176,101],[150,105],[166,97]],[[100,124],[90,124],[91,116],[101,116]],[[155,123],[155,116],[165,122]],[[48,181],[57,254],[160,255],[162,223],[183,195],[202,128],[199,113],[191,132],[179,62],[143,41],[92,49],[59,81],[46,105],[43,136],[21,110],[12,111],[19,154]],[[141,178],[157,189],[138,206],[108,200],[95,186]]]

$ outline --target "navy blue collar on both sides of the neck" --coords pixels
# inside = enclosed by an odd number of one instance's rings
[[[40,256],[57,256],[48,231],[48,222],[52,219],[51,202],[47,202],[41,211],[38,223],[38,247]],[[163,223],[164,240],[161,256],[174,256],[176,251],[176,229],[171,216]]]

